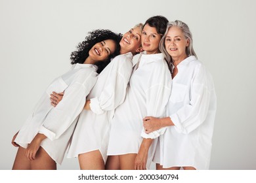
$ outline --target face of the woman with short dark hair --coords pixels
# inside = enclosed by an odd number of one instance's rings
[[[156,30],[156,27],[150,27],[150,25],[144,25],[142,35],[142,48],[146,51],[146,54],[158,54],[160,50],[158,48],[161,40],[161,35]]]

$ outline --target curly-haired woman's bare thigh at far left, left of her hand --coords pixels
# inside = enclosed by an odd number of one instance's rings
[[[30,160],[25,156],[26,148],[18,147],[12,170],[31,170]]]

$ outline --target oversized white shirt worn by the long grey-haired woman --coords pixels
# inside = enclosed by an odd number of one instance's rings
[[[209,169],[217,103],[213,80],[194,56],[181,61],[177,68],[167,105],[167,116],[175,125],[160,136],[154,161],[164,168]]]

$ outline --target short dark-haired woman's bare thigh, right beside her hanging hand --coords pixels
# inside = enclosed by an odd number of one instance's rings
[[[137,156],[137,154],[119,155],[120,169],[121,170],[134,170],[136,156]]]

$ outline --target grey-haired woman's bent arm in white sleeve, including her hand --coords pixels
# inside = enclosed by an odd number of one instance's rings
[[[146,117],[143,122],[144,127],[151,131],[152,129],[158,129],[160,126],[174,125],[179,133],[185,134],[199,127],[207,117],[209,105],[216,105],[213,80],[204,67],[197,70],[190,88],[189,103],[166,118]]]

